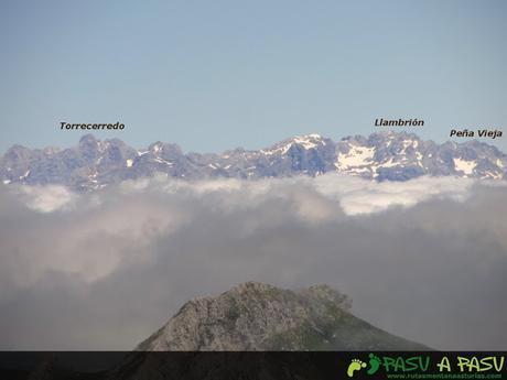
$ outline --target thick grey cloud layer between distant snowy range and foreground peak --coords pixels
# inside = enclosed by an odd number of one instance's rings
[[[507,192],[463,178],[0,187],[0,349],[131,349],[188,298],[327,283],[440,349],[507,349]]]

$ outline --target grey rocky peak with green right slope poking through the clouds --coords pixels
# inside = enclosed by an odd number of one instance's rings
[[[327,285],[300,291],[247,282],[192,300],[137,350],[421,350],[355,317]]]

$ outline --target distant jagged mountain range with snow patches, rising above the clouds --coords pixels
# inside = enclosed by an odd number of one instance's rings
[[[378,132],[338,142],[319,134],[298,135],[258,151],[235,149],[222,154],[184,153],[179,145],[163,142],[138,150],[118,139],[100,141],[86,134],[74,148],[14,145],[0,159],[4,184],[61,184],[77,192],[154,173],[190,180],[254,180],[328,172],[379,182],[422,175],[505,180],[507,155],[476,140],[438,144],[413,133]]]

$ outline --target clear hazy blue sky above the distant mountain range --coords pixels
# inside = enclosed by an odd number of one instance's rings
[[[1,1],[0,151],[75,144],[60,121],[222,151],[378,117],[497,127],[507,151],[506,21],[506,1]]]

